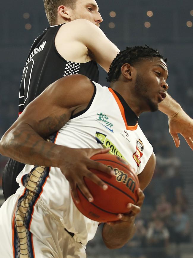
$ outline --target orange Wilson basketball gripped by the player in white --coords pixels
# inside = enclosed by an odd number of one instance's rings
[[[91,169],[107,185],[103,190],[88,178],[84,178],[85,184],[92,194],[94,201],[89,202],[77,187],[80,203],[75,205],[86,217],[98,222],[116,221],[118,213],[128,213],[128,203],[136,204],[138,201],[137,189],[139,181],[137,175],[129,171],[127,162],[111,154],[97,154],[92,160],[110,166],[115,175],[111,176],[98,170]]]

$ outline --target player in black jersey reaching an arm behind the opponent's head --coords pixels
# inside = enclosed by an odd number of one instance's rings
[[[19,115],[49,84],[63,76],[83,74],[98,82],[97,63],[108,72],[119,51],[99,29],[102,17],[95,0],[44,2],[51,27],[34,41],[27,57],[19,91]],[[193,149],[193,120],[180,105],[167,95],[159,110],[168,115],[176,147],[180,133]],[[17,190],[15,179],[23,167],[15,160],[8,161],[2,182],[5,199]]]

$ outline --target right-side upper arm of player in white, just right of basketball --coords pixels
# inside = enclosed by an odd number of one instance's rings
[[[151,157],[149,158],[147,164],[145,165],[145,168],[143,171],[138,175],[139,183],[140,183],[140,189],[143,191],[148,184],[151,182],[151,179],[154,174],[156,166],[156,156],[154,152],[151,154]]]

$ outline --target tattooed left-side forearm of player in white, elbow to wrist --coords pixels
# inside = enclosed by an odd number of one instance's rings
[[[28,124],[6,132],[0,141],[1,155],[31,165],[58,167],[65,148],[44,140]]]

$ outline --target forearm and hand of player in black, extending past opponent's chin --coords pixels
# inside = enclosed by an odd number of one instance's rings
[[[193,120],[170,95],[159,104],[159,110],[168,115],[169,130],[176,147],[179,147],[181,134],[193,150]]]

